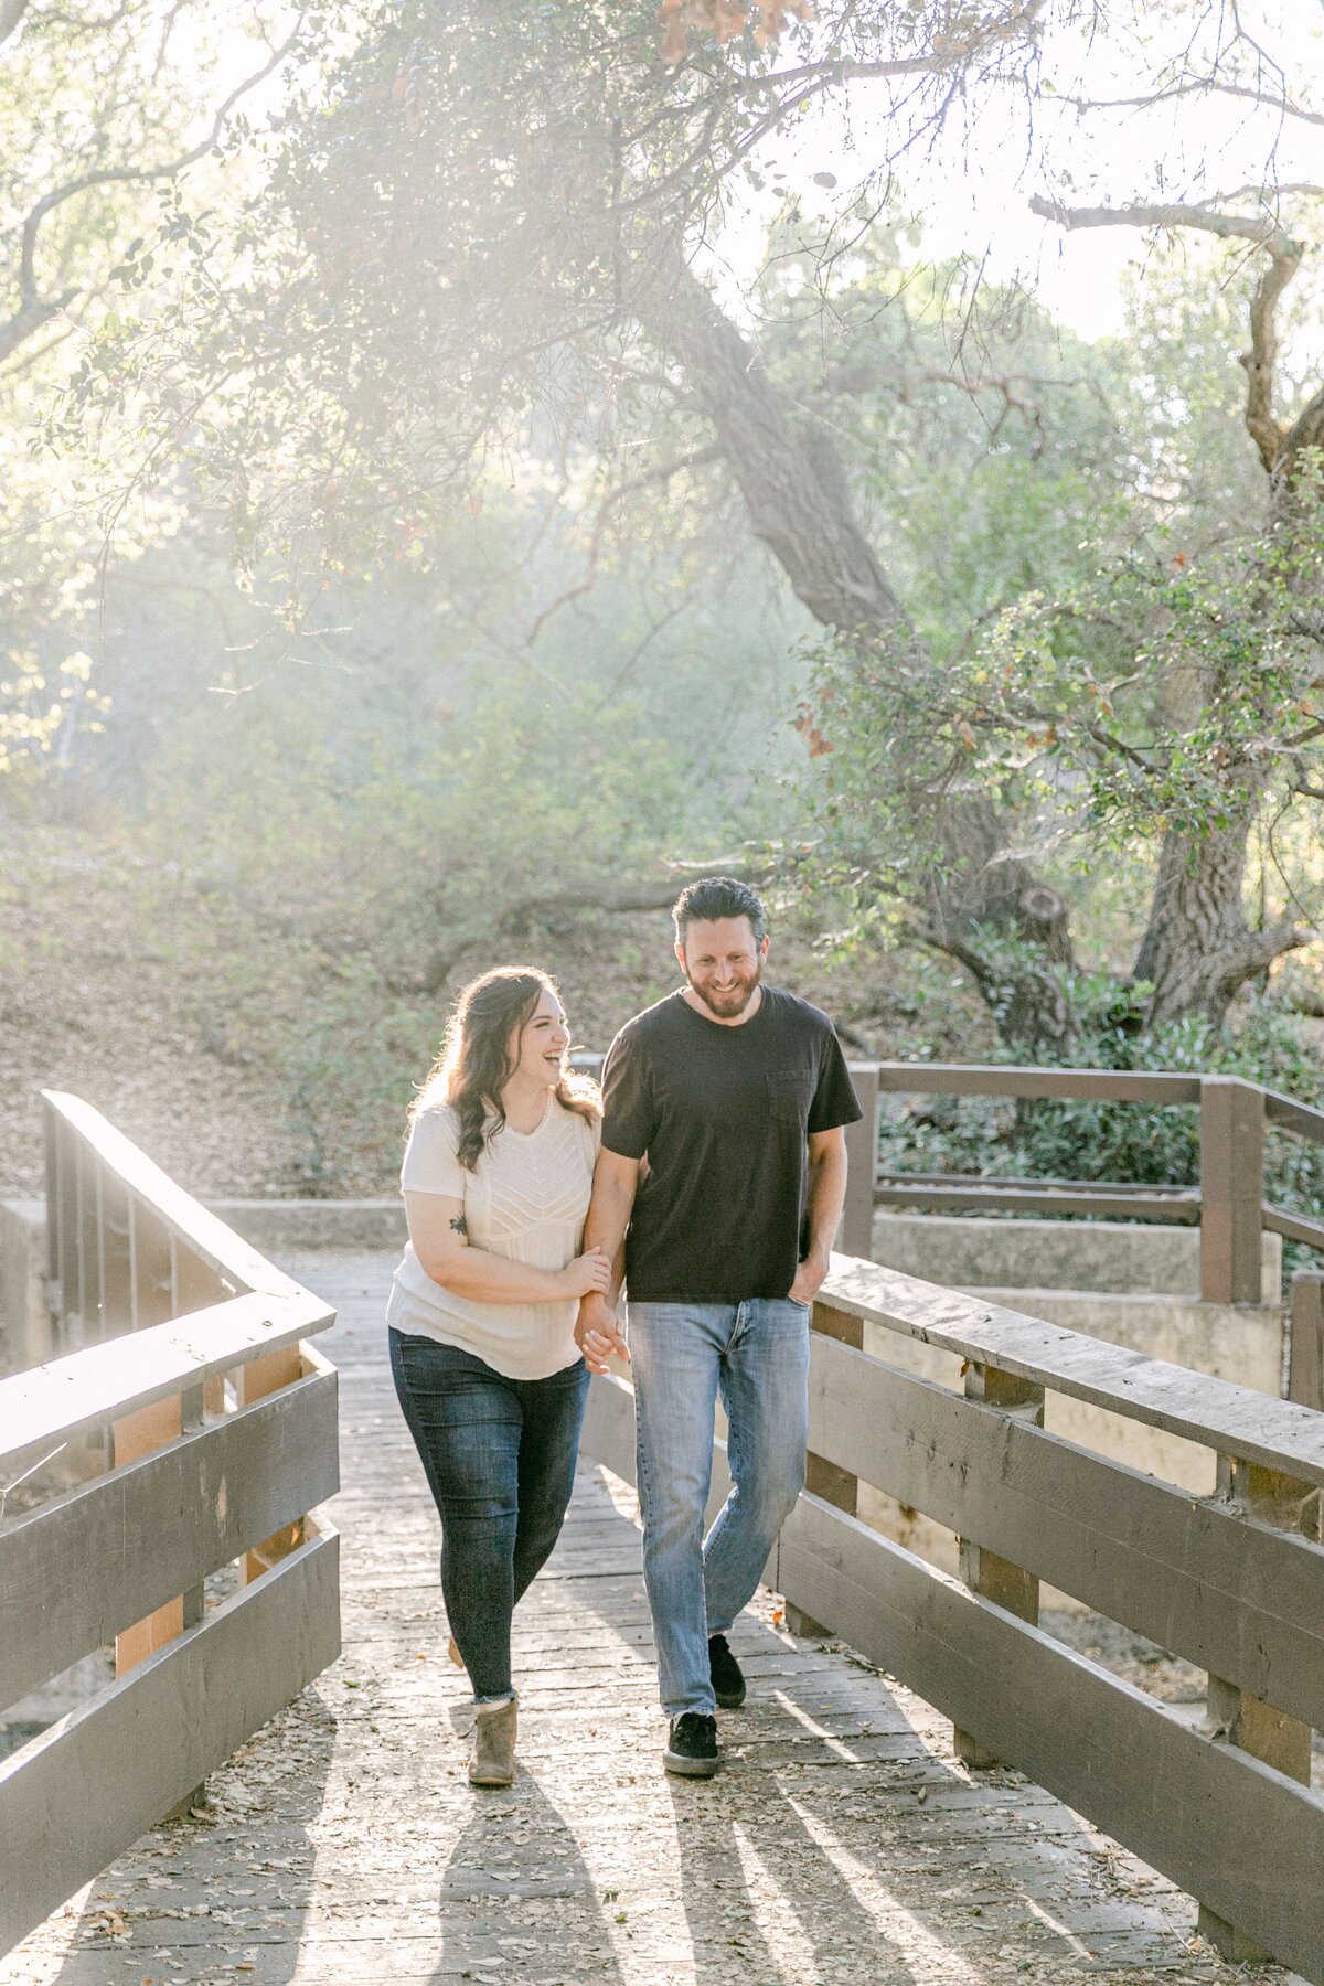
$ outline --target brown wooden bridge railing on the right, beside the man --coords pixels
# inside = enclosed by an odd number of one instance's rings
[[[957,1354],[963,1390],[871,1356],[865,1327]],[[1219,1491],[1044,1432],[1046,1392],[1203,1444]],[[584,1452],[633,1480],[623,1380],[594,1380]],[[955,1531],[963,1577],[861,1523],[860,1482]],[[1310,1408],[838,1255],[814,1305],[808,1490],[768,1579],[949,1716],[969,1766],[1020,1768],[1197,1897],[1225,1954],[1320,1986],[1322,1484]],[[1040,1581],[1205,1668],[1207,1728],[1042,1632]]]

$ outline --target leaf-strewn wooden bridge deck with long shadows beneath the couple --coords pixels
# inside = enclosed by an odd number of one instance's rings
[[[536,1980],[1002,1986],[1231,1982],[1195,1905],[1018,1773],[969,1775],[949,1726],[770,1603],[727,1768],[659,1766],[629,1491],[584,1468],[518,1617],[520,1775],[464,1777],[437,1519],[395,1408],[391,1259],[288,1265],[333,1301],[345,1654],[8,1960],[0,1986]],[[1288,1980],[1268,1968],[1264,1982]]]

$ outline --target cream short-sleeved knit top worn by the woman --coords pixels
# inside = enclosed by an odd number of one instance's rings
[[[542,1124],[508,1124],[478,1154],[472,1172],[459,1158],[459,1120],[451,1104],[419,1110],[405,1146],[401,1190],[445,1194],[464,1206],[470,1247],[534,1269],[564,1269],[576,1259],[594,1188],[601,1126],[548,1096]],[[574,1297],[556,1303],[480,1303],[435,1283],[413,1243],[395,1271],[387,1325],[474,1352],[506,1378],[550,1378],[580,1356]]]

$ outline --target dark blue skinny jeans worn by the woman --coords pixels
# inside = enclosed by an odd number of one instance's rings
[[[504,1378],[391,1331],[391,1374],[441,1517],[441,1591],[474,1702],[510,1696],[510,1617],[556,1543],[588,1400],[584,1360]]]

